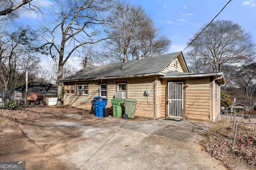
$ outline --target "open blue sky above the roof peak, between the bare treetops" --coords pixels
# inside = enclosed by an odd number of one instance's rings
[[[127,0],[140,4],[152,17],[161,35],[172,41],[169,52],[183,51],[204,24],[229,0]],[[232,0],[215,20],[232,20],[252,35],[256,43],[256,0]]]

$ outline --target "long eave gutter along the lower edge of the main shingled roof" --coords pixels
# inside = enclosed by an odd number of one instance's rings
[[[60,82],[120,79],[120,78],[130,78],[130,77],[153,76],[153,75],[164,76],[166,74],[159,72],[159,73],[149,73],[149,74],[140,74],[140,75],[121,75],[121,76],[115,76],[115,77],[96,77],[96,78],[92,78],[92,79],[60,80]]]

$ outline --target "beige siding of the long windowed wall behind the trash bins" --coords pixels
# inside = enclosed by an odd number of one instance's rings
[[[136,99],[136,111],[135,117],[143,117],[154,119],[154,109],[153,109],[153,78],[134,78],[134,79],[122,79],[122,82],[127,82],[127,99]],[[116,83],[120,82],[120,79],[112,79],[107,83],[107,99],[108,105],[106,107],[112,107],[111,99],[113,99],[116,92]],[[76,95],[77,94],[77,84],[74,85],[75,94],[66,95],[64,94],[64,104],[71,105],[73,107],[90,110],[91,100],[93,97],[99,96],[99,84],[98,82],[86,82],[88,84],[88,95]],[[79,82],[79,85],[83,82]],[[150,95],[144,95],[145,90],[150,91]]]

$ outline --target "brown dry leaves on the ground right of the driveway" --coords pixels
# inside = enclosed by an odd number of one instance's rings
[[[239,123],[233,146],[234,131],[230,119],[223,119],[212,125],[201,144],[213,158],[224,162],[229,169],[235,168],[232,164],[234,160],[256,168],[256,125]]]

